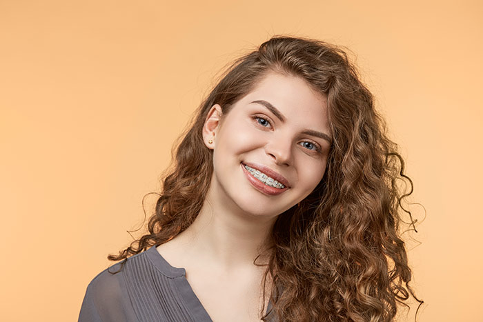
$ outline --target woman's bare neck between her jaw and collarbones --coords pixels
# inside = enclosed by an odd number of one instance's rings
[[[255,263],[268,263],[264,250],[277,217],[234,209],[208,196],[195,221],[177,237],[185,245],[184,256],[226,273],[257,268],[253,261],[262,253]]]

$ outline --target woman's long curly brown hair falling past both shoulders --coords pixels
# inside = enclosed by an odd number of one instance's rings
[[[264,294],[270,274],[279,321],[393,321],[410,296],[422,303],[408,285],[412,272],[401,237],[402,215],[414,223],[401,204],[413,182],[355,66],[324,41],[275,36],[221,75],[173,150],[148,233],[108,259],[166,243],[193,223],[213,174],[213,151],[202,138],[208,110],[217,103],[227,114],[274,71],[302,77],[327,97],[333,143],[322,181],[273,225]],[[400,191],[397,180],[408,181],[411,191]]]

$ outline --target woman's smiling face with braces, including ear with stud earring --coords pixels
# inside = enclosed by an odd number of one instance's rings
[[[223,117],[213,105],[204,141],[214,150],[210,202],[276,216],[324,176],[331,146],[326,97],[302,78],[270,72]]]

